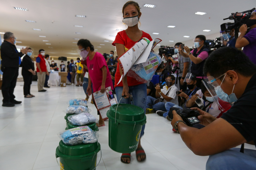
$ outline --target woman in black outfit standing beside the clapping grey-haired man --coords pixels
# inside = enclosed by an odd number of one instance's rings
[[[32,53],[33,53],[32,49],[28,48],[27,54],[22,59],[21,74],[24,80],[23,92],[24,92],[24,97],[27,97],[27,98],[34,97],[34,95],[30,93],[32,78],[33,78],[33,75],[36,75],[34,61],[31,59]]]

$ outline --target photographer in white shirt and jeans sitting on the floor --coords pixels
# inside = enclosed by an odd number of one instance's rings
[[[175,77],[173,75],[168,75],[166,78],[166,85],[160,88],[160,85],[155,87],[155,97],[147,96],[147,107],[146,114],[155,113],[157,110],[165,110],[164,104],[166,102],[172,102],[178,104],[178,96],[176,91],[178,88],[175,86]]]

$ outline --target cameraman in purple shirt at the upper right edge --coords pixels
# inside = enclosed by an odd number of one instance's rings
[[[247,27],[251,30],[246,34]],[[236,48],[242,48],[245,55],[256,64],[256,10],[252,11],[251,17],[239,28],[241,33],[236,40]]]

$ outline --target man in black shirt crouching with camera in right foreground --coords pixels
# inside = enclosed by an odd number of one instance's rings
[[[234,148],[256,142],[256,66],[238,49],[223,47],[211,53],[204,65],[208,79],[203,81],[218,106],[219,101],[234,103],[220,118],[199,111],[201,129],[185,124],[173,111],[172,126],[196,155],[211,155],[209,169],[256,169],[256,150]],[[242,149],[241,149],[242,151]]]

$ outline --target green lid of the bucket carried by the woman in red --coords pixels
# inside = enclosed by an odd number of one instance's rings
[[[116,118],[117,120],[122,121],[140,121],[143,120],[146,116],[144,110],[138,106],[132,104],[120,104],[117,107],[117,104],[113,104],[108,111],[111,117]],[[115,116],[116,114],[116,116]]]

